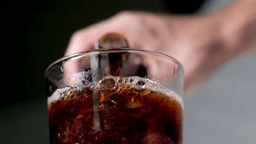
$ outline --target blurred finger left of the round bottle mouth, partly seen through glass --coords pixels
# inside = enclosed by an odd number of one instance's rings
[[[109,29],[114,31],[114,29],[118,29],[118,27],[106,20],[101,23],[97,23],[94,26],[81,29],[73,34],[65,55],[94,49],[94,45],[102,35],[110,31]],[[68,84],[70,86],[77,87],[78,85],[83,85],[83,83],[86,82],[86,79],[84,79],[86,70],[84,68],[88,67],[88,69],[91,69],[91,58],[92,57],[90,55],[83,55],[72,58],[63,64],[65,69],[65,79],[69,80]]]

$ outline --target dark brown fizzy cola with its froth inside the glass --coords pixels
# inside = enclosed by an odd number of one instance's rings
[[[48,98],[50,142],[182,143],[181,97],[153,80],[103,77]]]

